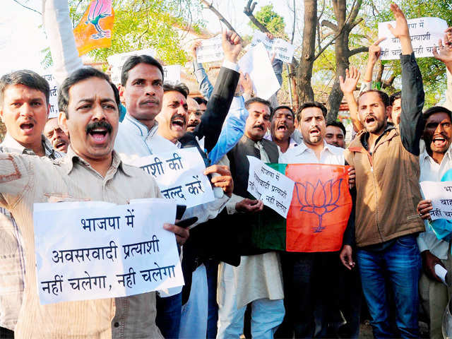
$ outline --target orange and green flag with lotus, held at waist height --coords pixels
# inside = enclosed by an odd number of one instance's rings
[[[295,187],[287,219],[267,210],[259,225],[253,225],[254,246],[290,252],[339,251],[352,210],[348,166],[268,165],[294,180]]]

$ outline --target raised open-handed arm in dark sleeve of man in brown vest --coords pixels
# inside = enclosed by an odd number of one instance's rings
[[[396,4],[391,4],[396,18],[396,27],[388,25],[389,30],[398,37],[402,46],[400,64],[402,66],[402,113],[400,114],[400,138],[403,146],[413,155],[419,155],[419,141],[424,130],[422,108],[424,107],[424,85],[412,52],[407,19]]]

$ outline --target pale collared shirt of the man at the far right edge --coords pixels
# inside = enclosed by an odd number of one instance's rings
[[[444,154],[441,164],[438,164],[423,150],[419,157],[421,174],[420,182],[440,182],[441,178],[446,174],[448,169],[452,168],[452,146],[448,148]],[[446,259],[448,254],[449,244],[444,240],[436,238],[432,227],[429,227],[429,222],[425,222],[425,232],[422,232],[417,237],[417,246],[421,252],[429,250],[434,256],[440,259]]]

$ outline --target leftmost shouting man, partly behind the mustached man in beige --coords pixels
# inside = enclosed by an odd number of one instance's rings
[[[0,79],[0,116],[6,136],[0,144],[4,153],[61,157],[42,135],[49,114],[49,84],[33,71],[16,71]],[[20,231],[11,212],[1,208],[0,227],[0,326],[14,329],[22,305],[25,258]]]

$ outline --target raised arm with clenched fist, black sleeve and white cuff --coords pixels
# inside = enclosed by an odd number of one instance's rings
[[[206,112],[201,118],[201,124],[198,124],[193,132],[198,139],[206,138],[204,145],[208,152],[218,141],[240,76],[237,57],[242,50],[242,41],[239,36],[232,32],[223,32],[222,47],[225,51],[225,61],[208,101]]]

